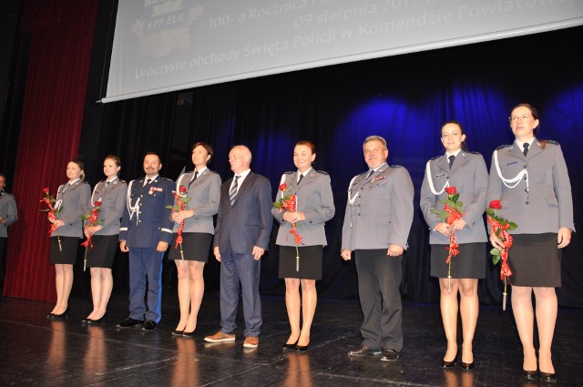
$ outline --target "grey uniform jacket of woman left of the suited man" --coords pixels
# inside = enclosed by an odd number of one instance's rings
[[[192,209],[194,216],[184,219],[183,232],[215,233],[212,216],[219,211],[220,200],[220,176],[217,172],[206,168],[196,180],[193,181],[194,172],[180,175],[176,182],[176,191],[180,187],[187,188],[190,201],[186,209]],[[174,224],[174,232],[177,232],[180,223]]]

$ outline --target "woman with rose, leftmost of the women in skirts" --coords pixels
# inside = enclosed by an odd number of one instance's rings
[[[82,161],[69,161],[66,165],[69,181],[56,192],[55,209],[61,209],[56,218],[48,221],[56,226],[51,234],[50,263],[55,265],[56,305],[46,315],[47,319],[66,319],[68,300],[73,287],[73,265],[77,261],[79,239],[83,238],[83,220],[87,213],[91,188],[84,181]],[[57,236],[58,235],[58,236]],[[60,239],[60,240],[59,240]]]

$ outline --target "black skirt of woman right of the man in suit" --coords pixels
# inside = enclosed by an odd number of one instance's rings
[[[299,246],[300,260],[294,246],[280,246],[280,278],[322,280],[322,246]],[[296,270],[299,269],[299,270]]]

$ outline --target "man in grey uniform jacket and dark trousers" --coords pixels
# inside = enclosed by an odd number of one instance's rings
[[[413,222],[413,182],[401,166],[389,167],[389,150],[380,136],[363,143],[370,168],[348,187],[341,256],[354,251],[358,292],[363,309],[363,342],[350,356],[380,355],[398,359],[403,348],[401,284],[403,253]]]

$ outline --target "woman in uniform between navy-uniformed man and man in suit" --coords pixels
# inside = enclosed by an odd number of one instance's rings
[[[194,170],[180,175],[176,183],[176,192],[180,192],[182,188],[190,200],[184,210],[174,210],[170,216],[176,224],[169,260],[176,262],[179,272],[180,305],[180,321],[172,332],[173,335],[192,337],[197,327],[197,316],[204,293],[202,270],[209,260],[210,243],[214,235],[212,217],[219,211],[220,176],[207,168],[213,154],[209,144],[196,143],[192,147]],[[177,247],[177,231],[182,220],[182,246]]]

